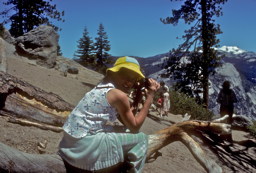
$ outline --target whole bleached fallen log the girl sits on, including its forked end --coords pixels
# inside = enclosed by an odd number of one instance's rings
[[[148,136],[149,148],[146,161],[152,162],[156,158],[152,155],[166,145],[181,141],[191,151],[195,159],[203,166],[207,172],[222,172],[220,166],[208,157],[201,147],[187,135],[185,131],[195,130],[228,133],[230,125],[222,123],[202,122],[202,121],[183,121],[176,123],[168,128],[162,129]],[[42,165],[41,165],[42,164]],[[58,155],[35,155],[17,151],[0,143],[0,170],[15,173],[32,172],[66,172],[64,162]],[[40,170],[40,171],[39,171]],[[88,172],[88,171],[84,171]],[[104,172],[108,172],[105,170]]]

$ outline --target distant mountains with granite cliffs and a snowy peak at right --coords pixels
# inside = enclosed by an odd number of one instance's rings
[[[219,113],[219,104],[216,99],[222,84],[225,80],[231,82],[233,89],[238,97],[238,103],[235,103],[237,114],[245,115],[256,120],[256,53],[239,49],[238,47],[223,46],[218,50],[218,56],[225,54],[225,57],[219,62],[222,67],[215,69],[214,76],[210,76],[211,86],[209,87],[209,109],[215,114]],[[161,78],[159,74],[165,73],[166,70],[161,69],[165,63],[166,55],[163,53],[153,57],[141,58],[133,57],[141,64],[141,68],[145,71],[145,76],[155,79],[156,81],[164,81],[168,86],[174,82],[171,78]],[[119,57],[113,57],[115,61]]]

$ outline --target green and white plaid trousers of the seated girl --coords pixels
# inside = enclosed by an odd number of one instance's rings
[[[142,132],[117,133],[117,136],[122,145],[124,161],[130,165],[127,172],[142,172],[148,151],[148,136]]]

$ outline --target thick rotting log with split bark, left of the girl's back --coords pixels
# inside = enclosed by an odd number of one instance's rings
[[[0,72],[0,113],[2,114],[62,127],[74,107],[58,95]]]

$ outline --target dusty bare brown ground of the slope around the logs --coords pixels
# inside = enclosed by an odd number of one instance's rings
[[[8,58],[9,74],[22,78],[30,84],[53,92],[65,101],[76,105],[84,94],[96,85],[101,77],[90,71],[79,71],[77,75],[60,76],[54,69],[46,69],[28,63],[26,59]],[[77,79],[73,79],[76,76]],[[149,135],[183,118],[170,114],[169,118],[148,116],[141,131]],[[62,133],[41,130],[33,126],[22,126],[8,121],[8,117],[0,116],[0,142],[23,152],[32,154],[54,154],[62,138]],[[249,138],[247,133],[233,131],[234,143],[226,142],[224,146],[215,143],[202,134],[192,136],[207,155],[216,161],[225,173],[256,172],[255,140],[242,144]],[[152,163],[145,163],[143,172],[206,172],[195,160],[190,151],[181,142],[173,142],[159,150],[162,156]]]

